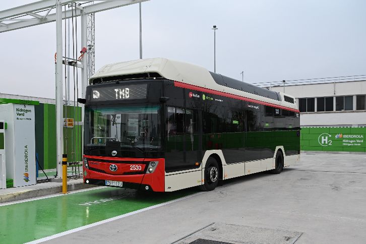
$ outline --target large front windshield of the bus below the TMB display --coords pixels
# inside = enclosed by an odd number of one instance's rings
[[[159,105],[85,107],[85,145],[154,151],[161,147]]]

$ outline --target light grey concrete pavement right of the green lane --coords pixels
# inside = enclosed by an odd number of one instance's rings
[[[212,223],[302,233],[296,244],[365,243],[365,186],[366,155],[304,153],[297,165],[281,174],[231,179],[215,191],[49,243],[172,243]],[[235,230],[227,230],[220,241],[234,243],[235,235]],[[256,243],[250,237],[249,233],[241,241]],[[270,235],[261,240],[275,241]]]

